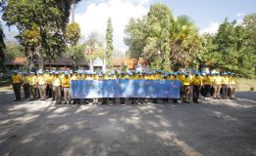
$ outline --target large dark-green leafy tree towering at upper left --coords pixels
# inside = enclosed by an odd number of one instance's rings
[[[39,50],[39,57],[48,59],[56,59],[65,50],[65,31],[66,25],[69,22],[71,1],[59,0],[7,0],[2,5],[3,20],[7,21],[7,25],[16,25],[20,35],[19,42],[25,46],[26,56],[34,56]],[[38,26],[40,34],[40,44],[38,47],[30,47],[26,44],[25,31],[32,29],[32,26]],[[28,51],[32,50],[32,51]],[[31,55],[32,54],[32,55]],[[34,64],[36,59],[28,58],[31,64]],[[33,66],[33,65],[31,65]]]

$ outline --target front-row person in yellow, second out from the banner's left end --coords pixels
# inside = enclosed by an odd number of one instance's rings
[[[52,87],[55,97],[55,104],[62,103],[62,79],[60,77],[60,73],[57,71],[55,72],[55,77],[52,80]]]

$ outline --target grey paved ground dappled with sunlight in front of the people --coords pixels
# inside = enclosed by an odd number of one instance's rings
[[[0,92],[0,155],[256,155],[256,93],[143,105],[12,102]]]

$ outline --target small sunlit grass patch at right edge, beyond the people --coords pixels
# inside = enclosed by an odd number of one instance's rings
[[[237,91],[251,91],[252,87],[254,88],[254,92],[255,92],[256,79],[245,79],[245,78],[237,79]]]

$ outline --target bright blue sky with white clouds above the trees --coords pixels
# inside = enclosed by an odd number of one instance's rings
[[[112,19],[114,28],[114,47],[125,52],[125,25],[130,18],[145,16],[151,4],[167,4],[174,17],[188,16],[198,26],[200,33],[215,33],[225,18],[241,22],[242,18],[256,13],[256,0],[81,0],[77,4],[75,21],[81,27],[81,34],[98,32],[105,36],[107,19]],[[3,22],[4,24],[4,22]],[[4,26],[7,38],[16,31]]]

